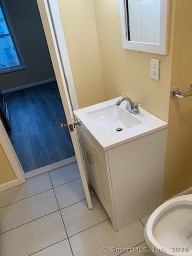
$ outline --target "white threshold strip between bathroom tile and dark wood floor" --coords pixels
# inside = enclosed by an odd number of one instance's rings
[[[59,162],[49,164],[49,165],[43,166],[41,168],[37,168],[35,170],[26,172],[26,178],[29,179],[31,177],[35,177],[39,174],[43,174],[45,172],[49,172],[49,171],[58,169],[62,166],[65,166],[65,165],[68,165],[68,164],[71,164],[71,163],[74,163],[74,162],[76,162],[76,156],[72,156],[72,157],[66,158],[64,160],[61,160]]]

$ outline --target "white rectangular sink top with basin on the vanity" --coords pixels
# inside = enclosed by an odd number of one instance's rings
[[[142,108],[139,108],[138,115],[130,113],[125,109],[126,101],[121,106],[116,106],[117,99],[119,98],[74,111],[76,118],[81,119],[104,149],[116,147],[168,126],[166,122]],[[122,128],[122,131],[116,131],[118,128]]]

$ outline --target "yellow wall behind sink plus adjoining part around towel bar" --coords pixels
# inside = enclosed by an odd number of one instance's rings
[[[124,50],[119,1],[93,0],[106,98],[127,94],[154,115],[169,120],[165,199],[192,186],[192,101],[171,99],[170,88],[188,91],[192,82],[192,1],[171,1],[167,56]],[[110,6],[110,8],[108,7]],[[150,59],[161,60],[159,81],[150,78]]]

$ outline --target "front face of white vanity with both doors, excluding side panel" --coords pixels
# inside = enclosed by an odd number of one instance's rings
[[[105,208],[114,229],[117,230],[111,197],[110,172],[105,152],[90,132],[82,124],[78,127],[78,135],[82,147],[87,178]]]

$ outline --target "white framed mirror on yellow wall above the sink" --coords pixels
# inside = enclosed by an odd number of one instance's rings
[[[168,53],[170,0],[120,0],[123,48]]]

